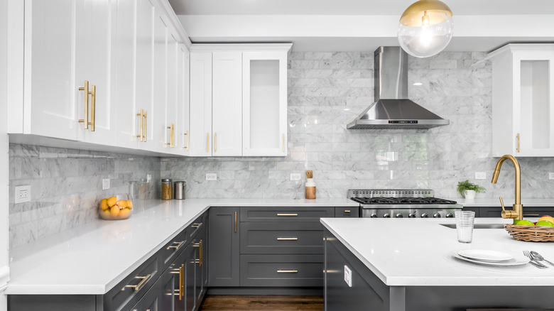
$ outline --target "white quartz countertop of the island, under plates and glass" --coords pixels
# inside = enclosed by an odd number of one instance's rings
[[[386,285],[391,286],[536,286],[554,285],[554,267],[511,267],[468,263],[452,254],[463,249],[504,251],[521,257],[534,250],[554,261],[554,243],[516,241],[504,229],[474,229],[471,244],[457,241],[456,229],[440,224],[455,219],[322,218],[327,229]],[[531,219],[533,220],[533,219]],[[479,218],[476,223],[511,219]],[[548,263],[546,263],[548,265]]]

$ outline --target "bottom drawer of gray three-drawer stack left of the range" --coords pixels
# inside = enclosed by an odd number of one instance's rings
[[[323,286],[323,255],[241,255],[241,286]]]

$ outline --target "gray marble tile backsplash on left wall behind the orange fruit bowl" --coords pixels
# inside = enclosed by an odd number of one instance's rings
[[[103,197],[159,197],[156,157],[20,144],[10,144],[9,152],[11,248],[97,219]],[[102,190],[103,178],[110,179],[109,190]],[[16,185],[31,185],[30,202],[14,203]]]

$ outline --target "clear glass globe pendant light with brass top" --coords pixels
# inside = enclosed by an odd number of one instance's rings
[[[398,23],[398,42],[406,53],[428,58],[452,39],[452,11],[439,0],[419,0],[408,6]]]

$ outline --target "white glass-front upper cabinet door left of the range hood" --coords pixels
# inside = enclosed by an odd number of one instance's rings
[[[287,155],[287,50],[242,54],[242,155]]]

